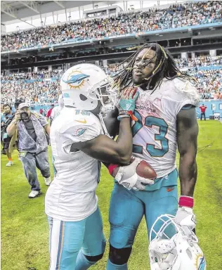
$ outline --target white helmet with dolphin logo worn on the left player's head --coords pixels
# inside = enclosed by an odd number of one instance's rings
[[[111,91],[112,79],[93,64],[74,65],[60,80],[64,104],[81,110],[94,110],[101,102],[105,113],[115,108],[117,93]],[[103,98],[109,101],[105,103]]]

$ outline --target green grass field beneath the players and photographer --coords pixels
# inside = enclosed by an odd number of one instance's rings
[[[216,121],[199,122],[198,179],[195,189],[197,236],[207,258],[208,270],[222,269],[222,124]],[[211,147],[204,146],[214,142]],[[202,150],[204,149],[204,150]],[[202,150],[202,151],[201,151]],[[18,161],[6,167],[6,156],[1,155],[1,269],[48,269],[48,224],[44,214],[44,195],[47,187],[39,175],[42,195],[30,200],[27,184]],[[103,215],[105,236],[110,226],[108,209],[112,179],[103,167],[98,186],[100,210]],[[144,220],[138,229],[129,270],[149,270],[148,237]],[[103,270],[107,261],[108,245],[103,259],[91,269]]]

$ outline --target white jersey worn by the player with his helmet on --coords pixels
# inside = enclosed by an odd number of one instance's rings
[[[79,221],[96,211],[100,162],[70,148],[72,143],[89,141],[100,134],[100,121],[84,110],[63,108],[53,120],[50,138],[57,173],[46,193],[45,212],[49,217]]]

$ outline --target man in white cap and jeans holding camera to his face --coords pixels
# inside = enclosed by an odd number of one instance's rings
[[[35,198],[41,193],[36,167],[44,176],[46,186],[51,184],[46,138],[46,134],[50,134],[50,127],[42,115],[32,113],[27,103],[20,103],[15,119],[7,128],[8,136],[16,136],[16,132],[20,160],[31,186],[29,198]]]

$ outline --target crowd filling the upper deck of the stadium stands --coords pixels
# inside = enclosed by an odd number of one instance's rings
[[[216,23],[222,20],[221,1],[187,2],[166,9],[119,13],[63,25],[13,32],[1,37],[1,51],[58,44],[69,39],[83,40],[158,29]]]

